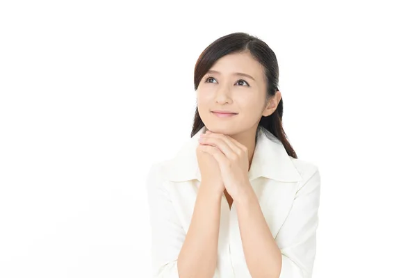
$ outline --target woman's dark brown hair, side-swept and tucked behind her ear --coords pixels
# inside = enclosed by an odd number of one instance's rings
[[[204,49],[202,54],[200,54],[197,63],[195,64],[194,89],[197,90],[203,76],[207,73],[208,70],[210,70],[210,68],[218,59],[228,54],[242,53],[246,51],[249,52],[252,57],[263,66],[265,81],[267,83],[266,94],[268,97],[266,100],[268,101],[270,97],[274,97],[277,90],[279,90],[279,69],[277,57],[275,56],[274,51],[268,47],[268,44],[253,35],[242,32],[224,35],[208,45],[206,49]],[[258,125],[258,129],[264,128],[270,131],[270,133],[272,133],[272,135],[281,141],[282,145],[284,145],[288,156],[297,158],[297,154],[295,154],[293,147],[291,147],[291,144],[286,138],[286,133],[282,127],[282,113],[283,103],[281,97],[281,101],[279,101],[278,107],[275,109],[274,113],[268,117],[262,116]],[[195,133],[202,129],[203,126],[204,123],[199,116],[198,108],[196,106],[191,137],[193,137]]]

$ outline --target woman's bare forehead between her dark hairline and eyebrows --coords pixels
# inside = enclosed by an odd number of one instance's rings
[[[260,82],[263,76],[262,65],[252,58],[249,53],[229,54],[223,56],[211,67],[210,70],[220,72],[222,75],[232,75],[242,72],[253,76],[256,82]]]

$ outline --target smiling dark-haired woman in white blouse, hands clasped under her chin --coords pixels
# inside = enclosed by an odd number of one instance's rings
[[[286,139],[278,76],[247,33],[199,56],[191,139],[147,176],[154,277],[311,277],[320,174]]]

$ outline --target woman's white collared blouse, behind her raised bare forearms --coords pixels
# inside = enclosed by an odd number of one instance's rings
[[[152,277],[179,278],[177,258],[186,238],[201,174],[195,149],[200,133],[174,158],[154,163],[147,175],[152,228]],[[267,133],[270,137],[267,136]],[[273,138],[273,139],[271,139]],[[318,167],[286,154],[266,129],[258,130],[248,177],[282,254],[281,278],[311,277],[320,202]],[[251,277],[245,263],[236,208],[222,197],[215,278]]]

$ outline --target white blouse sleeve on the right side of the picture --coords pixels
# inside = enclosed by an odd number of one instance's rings
[[[320,203],[320,172],[309,167],[297,190],[293,207],[275,242],[282,254],[280,278],[311,278],[316,256],[316,230]]]

